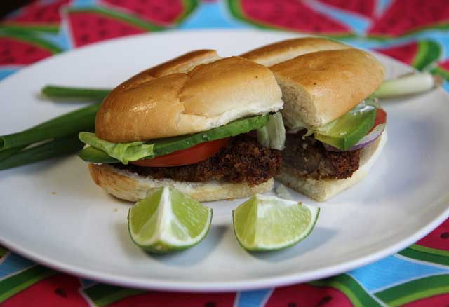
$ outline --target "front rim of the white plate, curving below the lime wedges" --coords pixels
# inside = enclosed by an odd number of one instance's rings
[[[439,199],[436,201],[439,203],[448,203],[447,199]],[[366,264],[373,263],[377,260],[388,257],[391,254],[403,250],[404,248],[413,245],[421,238],[424,238],[428,233],[433,231],[438,227],[445,219],[449,218],[449,206],[436,218],[429,223],[422,226],[418,231],[416,231],[412,236],[405,238],[398,243],[391,245],[387,248],[379,250],[373,254],[368,254],[365,257],[358,257],[358,259],[344,262],[343,264],[334,264],[333,266],[328,266],[326,268],[321,268],[319,270],[309,271],[305,274],[290,273],[286,275],[279,275],[270,278],[257,278],[257,280],[245,280],[245,281],[229,281],[229,282],[195,282],[195,281],[166,281],[157,280],[149,278],[129,278],[123,277],[111,273],[102,273],[100,271],[95,272],[93,270],[79,268],[77,266],[72,266],[65,264],[58,260],[52,260],[48,257],[43,257],[36,252],[28,250],[26,247],[20,247],[15,245],[9,240],[6,240],[0,235],[0,243],[7,247],[9,250],[16,252],[28,259],[32,259],[37,264],[42,264],[48,268],[53,268],[57,271],[62,271],[64,273],[69,273],[81,278],[87,278],[89,280],[94,280],[95,282],[105,282],[110,285],[118,285],[121,287],[132,287],[135,289],[154,289],[154,290],[165,290],[165,291],[175,291],[175,292],[234,292],[234,291],[246,291],[263,289],[267,287],[281,287],[285,285],[293,285],[300,282],[308,282],[311,280],[319,280],[322,278],[327,278],[340,273],[345,273],[351,271],[354,268],[365,266]]]

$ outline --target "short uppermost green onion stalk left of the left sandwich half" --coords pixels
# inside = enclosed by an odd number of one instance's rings
[[[41,92],[49,98],[102,101],[110,91],[109,89],[99,88],[45,86]]]

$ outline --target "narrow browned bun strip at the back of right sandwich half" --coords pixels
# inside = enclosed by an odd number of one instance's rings
[[[288,39],[279,41],[271,45],[262,46],[260,48],[243,53],[241,57],[257,62],[264,66],[272,66],[280,62],[284,62],[298,55],[306,53],[314,53],[323,50],[339,50],[348,49],[351,46],[329,39],[321,39],[319,37],[305,37],[302,39]]]

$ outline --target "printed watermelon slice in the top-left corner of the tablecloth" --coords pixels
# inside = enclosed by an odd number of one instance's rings
[[[60,9],[71,0],[58,0],[51,3],[36,1],[25,6],[19,15],[8,18],[3,26],[15,29],[58,32],[61,22]]]

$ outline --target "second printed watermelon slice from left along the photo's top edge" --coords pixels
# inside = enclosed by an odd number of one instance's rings
[[[136,17],[159,25],[174,25],[192,13],[197,6],[195,0],[101,0],[112,8],[119,8],[123,13],[131,13]]]

